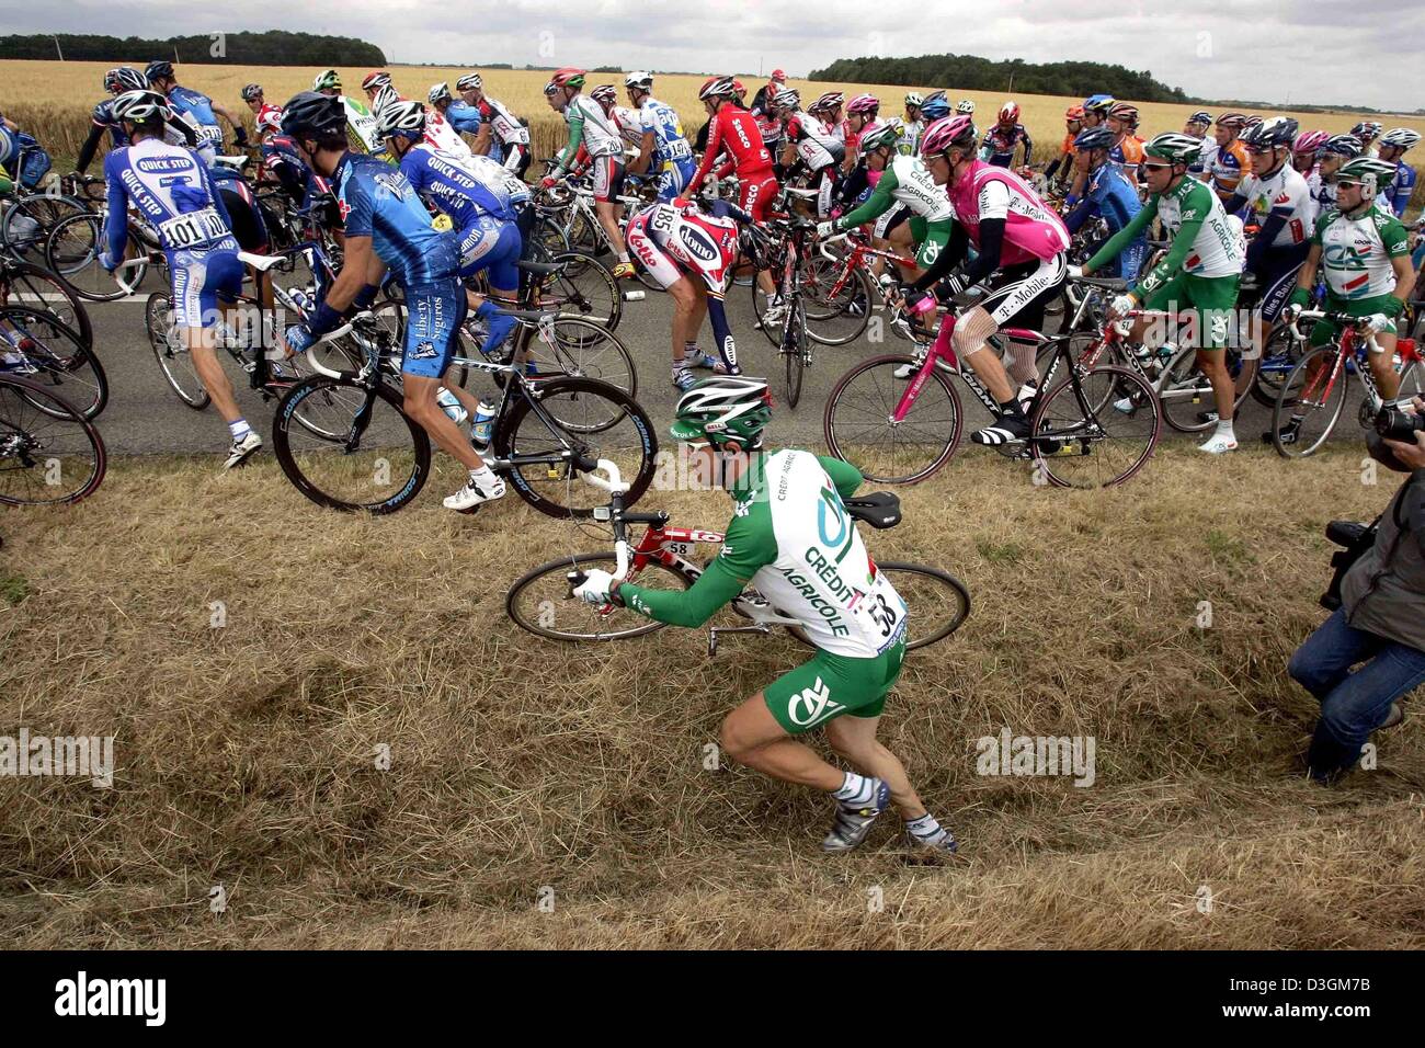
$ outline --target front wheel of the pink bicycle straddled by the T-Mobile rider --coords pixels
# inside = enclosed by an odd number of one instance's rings
[[[862,475],[868,481],[875,481],[878,483],[919,483],[928,476],[932,476],[955,455],[955,451],[960,443],[960,432],[965,426],[965,411],[960,406],[959,394],[950,384],[949,376],[946,376],[939,368],[931,369],[931,376],[921,389],[915,405],[911,406],[911,412],[906,413],[906,419],[896,425],[891,423],[891,413],[899,402],[899,391],[905,389],[908,381],[912,381],[893,378],[891,375],[891,369],[905,364],[915,365],[915,359],[903,355],[886,355],[872,356],[855,365],[836,381],[835,386],[832,386],[831,394],[826,396],[826,406],[822,413],[822,436],[825,438],[831,453],[842,462],[852,463],[861,469]],[[871,392],[874,395],[868,398],[875,411],[879,413],[872,413],[871,408],[849,405],[846,402],[848,391],[852,384],[874,369],[885,369],[884,376],[876,374],[872,379],[874,386]],[[949,418],[943,426],[948,436],[935,438],[932,441],[928,435],[925,443],[928,448],[932,448],[933,453],[926,452],[922,455],[918,452],[915,458],[908,456],[905,461],[911,462],[915,468],[906,472],[902,466],[895,465],[892,461],[895,455],[893,445],[896,443],[895,433],[901,431],[901,426],[905,426],[911,413],[913,413],[916,408],[921,408],[921,415],[916,415],[918,426],[923,425],[931,429],[939,428],[939,419],[929,418],[929,412],[925,411],[926,405],[922,404],[928,391],[933,396],[935,389],[943,395],[949,408]],[[842,415],[842,421],[839,423],[836,421],[838,412]],[[921,422],[922,416],[926,418],[925,422]],[[852,438],[862,433],[874,433],[882,423],[891,433],[892,459],[888,459],[886,465],[882,465],[878,461],[872,461],[869,455],[858,453],[856,458],[848,458],[848,455],[855,453],[855,448],[858,448],[856,441]]]

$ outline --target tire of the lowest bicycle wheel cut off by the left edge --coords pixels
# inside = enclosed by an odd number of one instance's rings
[[[9,395],[4,395],[9,391]],[[93,453],[93,465],[88,466],[81,483],[60,493],[57,498],[27,499],[7,495],[13,479],[24,471],[26,476],[41,476],[33,471],[43,471],[43,479],[34,486],[36,490],[56,489],[60,485],[51,483],[54,463],[73,461],[74,455],[60,455],[56,438],[40,435],[34,425],[24,421],[24,405],[37,411],[41,416],[41,426],[68,423],[77,428],[86,445]],[[78,438],[74,438],[78,445]],[[46,386],[31,382],[20,375],[0,374],[0,505],[7,506],[44,506],[44,505],[73,505],[80,499],[93,495],[104,481],[108,468],[108,456],[104,449],[104,439],[98,435],[94,423],[84,418],[80,411],[58,394]]]

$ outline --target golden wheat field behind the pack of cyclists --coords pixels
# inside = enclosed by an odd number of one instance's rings
[[[80,143],[88,134],[88,114],[94,103],[103,97],[103,77],[107,63],[94,61],[0,61],[0,113],[16,120],[40,141],[50,145],[57,155],[73,157],[78,153]],[[369,70],[342,68],[342,80],[352,94],[361,93],[361,78]],[[472,70],[455,67],[426,67],[426,66],[393,66],[392,76],[396,87],[406,96],[423,98],[432,84],[442,80],[455,81]],[[549,73],[523,70],[479,70],[484,77],[486,90],[510,106],[514,113],[530,121],[534,145],[539,155],[550,155],[554,148],[564,143],[563,121],[556,117],[544,103],[543,87],[549,80]],[[245,66],[180,66],[178,77],[181,83],[195,87],[227,106],[247,114],[239,91],[244,84],[258,81],[266,90],[268,101],[281,104],[292,94],[312,86],[316,67],[305,68],[296,66],[281,67],[245,67]],[[658,97],[674,106],[683,114],[684,127],[691,134],[701,127],[705,117],[703,106],[698,103],[698,87],[704,77],[665,76],[658,77],[656,84]],[[752,76],[744,76],[748,86],[748,97],[761,83]],[[614,83],[623,94],[621,74],[590,74],[590,84]],[[884,114],[902,113],[901,101],[909,90],[926,91],[943,84],[829,84],[792,80],[794,87],[802,91],[802,97],[815,96],[821,91],[871,91],[882,101]],[[952,98],[973,98],[978,107],[978,120],[985,123],[993,120],[993,114],[1005,103],[1006,96],[985,91],[960,91],[955,87],[946,88]],[[1023,123],[1033,135],[1040,150],[1047,150],[1047,158],[1057,151],[1064,134],[1064,108],[1083,101],[1082,98],[1056,96],[1019,96],[1017,101],[1023,110]],[[1131,100],[1124,100],[1131,101]],[[1198,108],[1196,106],[1170,106],[1164,103],[1143,103],[1143,124],[1140,133],[1144,137],[1159,131],[1180,130],[1187,115]],[[1349,113],[1288,113],[1301,121],[1302,128],[1321,128],[1324,131],[1348,131],[1361,117]],[[248,117],[251,123],[251,117]],[[1416,124],[1425,121],[1414,118]],[[1399,117],[1395,123],[1409,125],[1411,117]],[[1394,125],[1387,121],[1387,127]],[[1425,180],[1421,180],[1419,192],[1425,197]]]

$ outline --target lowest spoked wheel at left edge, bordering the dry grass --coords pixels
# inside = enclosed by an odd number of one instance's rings
[[[104,479],[104,441],[73,404],[0,374],[0,503],[78,502]]]

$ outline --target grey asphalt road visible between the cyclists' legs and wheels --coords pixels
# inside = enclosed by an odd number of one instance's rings
[[[157,279],[150,277],[157,288]],[[631,289],[641,285],[630,284]],[[104,364],[110,381],[110,404],[97,419],[97,425],[111,453],[144,455],[161,452],[211,452],[218,455],[227,449],[228,435],[218,415],[208,408],[192,411],[170,389],[158,369],[144,334],[142,299],[121,302],[90,302],[90,317],[94,325],[94,346]],[[671,356],[671,299],[660,292],[648,291],[641,302],[626,302],[623,321],[617,328],[620,338],[631,351],[638,366],[638,401],[663,429],[673,418],[677,389],[668,379]],[[752,325],[755,315],[751,294],[745,287],[735,287],[730,294],[728,319],[738,341],[742,369],[752,375],[767,375],[777,364],[774,349],[767,338]],[[704,348],[711,349],[711,331],[704,329]],[[775,411],[772,439],[778,445],[819,446],[822,441],[822,406],[836,379],[856,361],[884,352],[905,352],[908,342],[893,337],[886,328],[879,342],[862,335],[845,346],[815,346],[811,371],[805,376],[801,404],[787,408],[778,404]],[[274,404],[264,404],[259,394],[247,385],[247,375],[229,364],[229,375],[238,389],[239,405],[248,421],[268,438]],[[781,399],[781,376],[772,372],[774,395]],[[989,413],[973,399],[969,389],[959,386],[966,411],[965,441],[958,453],[988,453],[968,445],[968,435],[989,419]],[[1354,405],[1351,405],[1354,411]],[[1358,439],[1354,425],[1338,426],[1338,438]],[[1255,442],[1270,423],[1270,411],[1251,398],[1244,404],[1237,423],[1238,439],[1245,445]],[[1164,439],[1201,441],[1200,435],[1187,438],[1164,425]]]

